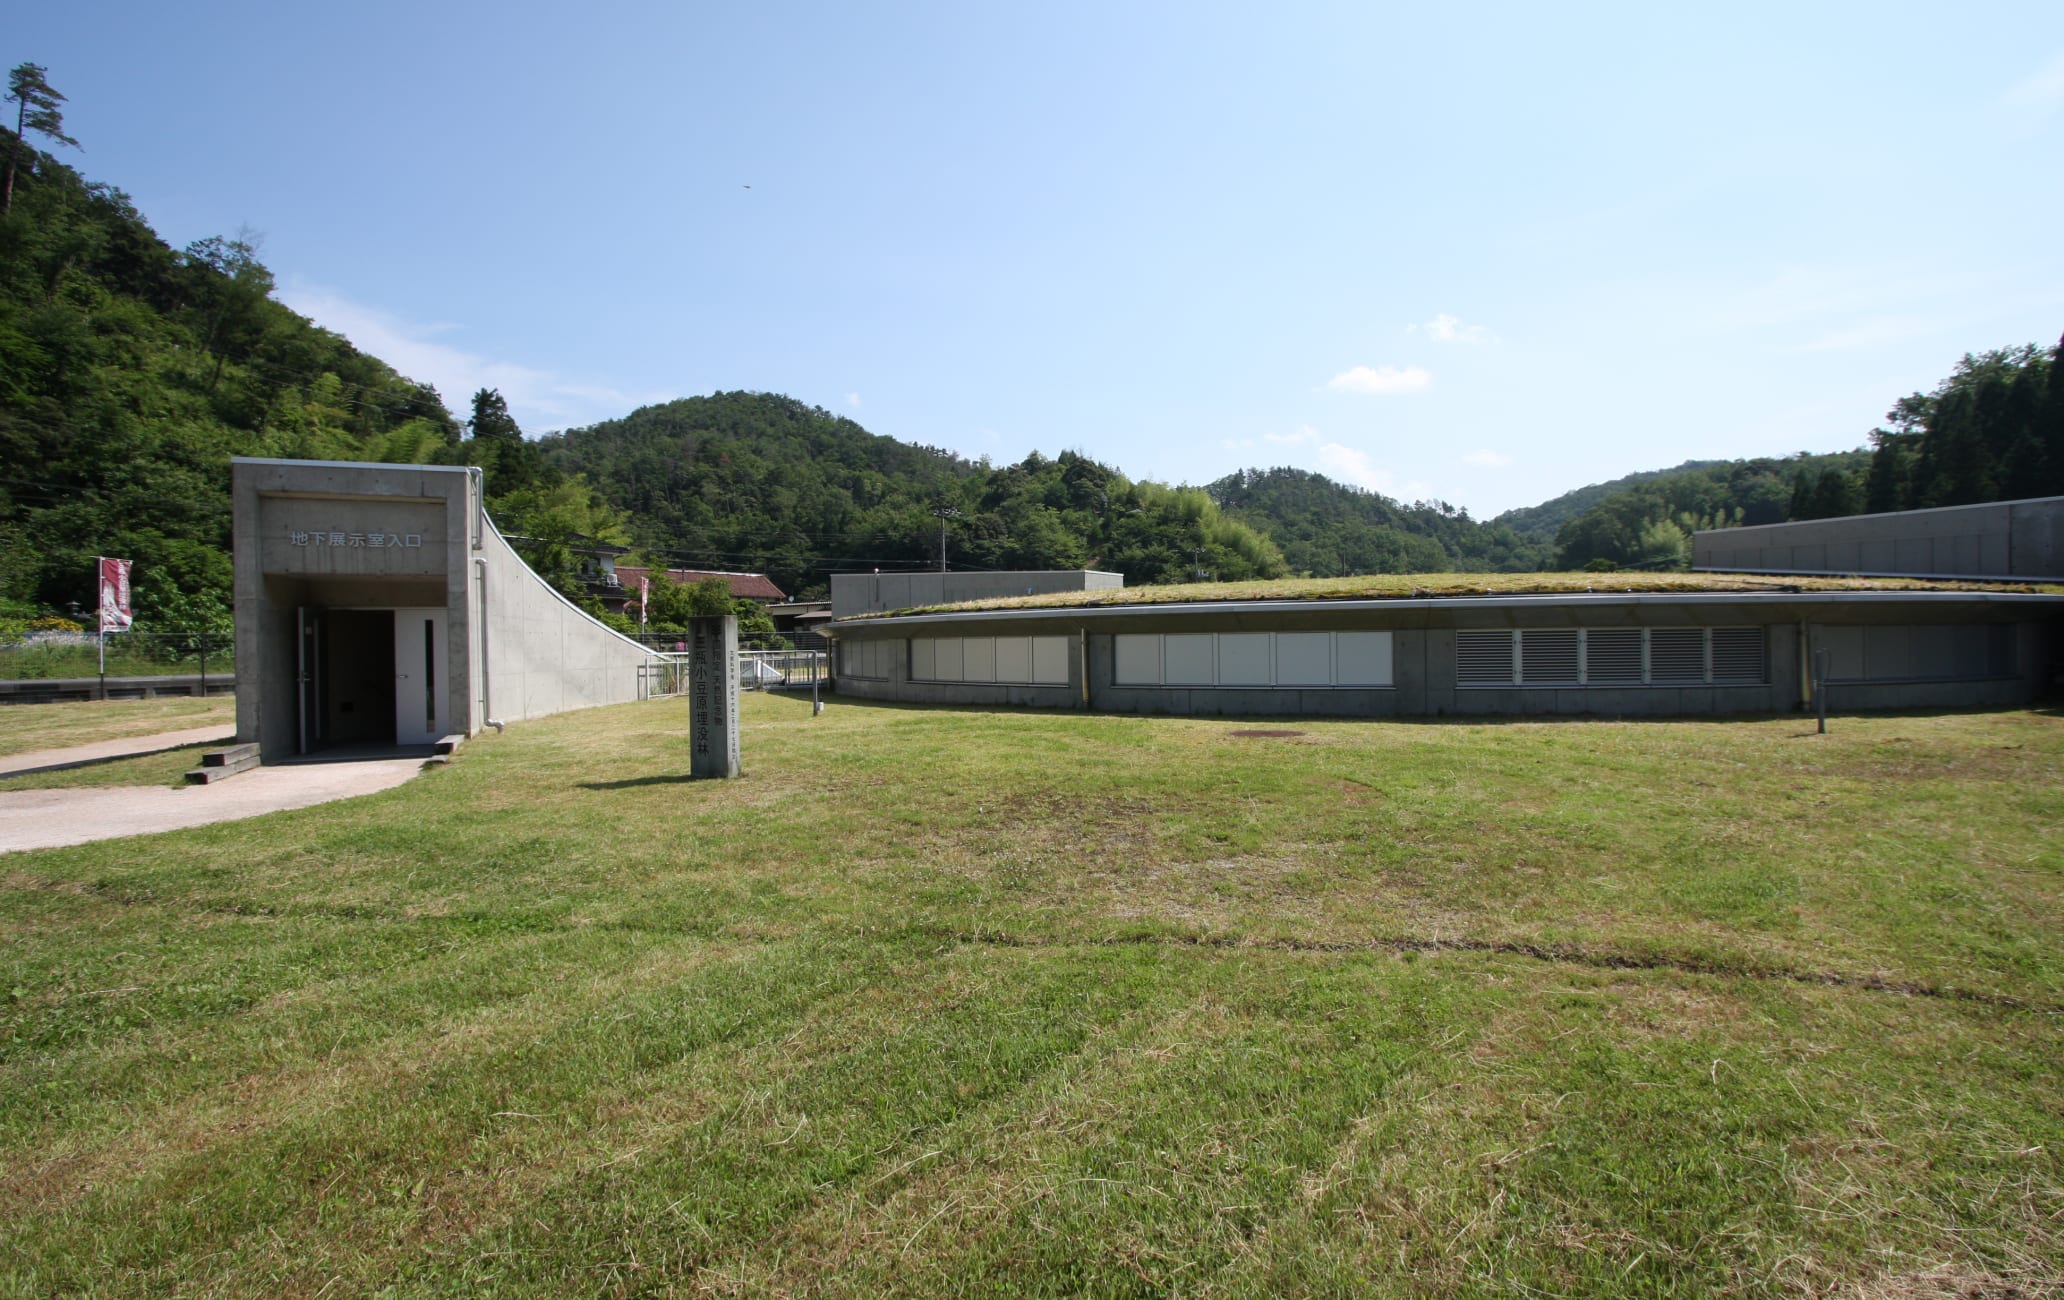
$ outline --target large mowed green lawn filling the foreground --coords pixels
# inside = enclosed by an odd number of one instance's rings
[[[1245,726],[658,702],[0,858],[0,1286],[2060,1286],[2064,718]]]

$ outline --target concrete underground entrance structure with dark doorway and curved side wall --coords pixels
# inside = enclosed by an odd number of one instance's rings
[[[231,462],[237,741],[266,761],[619,704],[654,654],[530,572],[479,470]]]

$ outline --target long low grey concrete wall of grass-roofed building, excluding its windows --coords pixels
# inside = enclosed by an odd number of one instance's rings
[[[1457,675],[1457,636],[1484,629],[1728,629],[1761,633],[1761,681],[1719,677],[1657,685],[1468,685]],[[1121,681],[1119,638],[1255,631],[1389,633],[1391,683],[1329,685],[1137,685]],[[867,700],[958,706],[1088,708],[1193,716],[1682,716],[1769,714],[1812,702],[1810,652],[1820,644],[1872,644],[1893,669],[1837,681],[1843,710],[1981,708],[2035,700],[2056,673],[2064,598],[1986,594],[1744,594],[1447,598],[1385,603],[1253,603],[1220,607],[1127,607],[1104,611],[993,611],[865,619],[836,627],[838,691]],[[1061,636],[1069,683],[939,683],[912,675],[912,638]],[[1653,633],[1647,633],[1653,636]],[[1595,640],[1595,638],[1591,638]],[[1717,640],[1705,642],[1717,646]],[[1971,646],[1992,646],[1973,656]],[[854,652],[873,646],[869,652]],[[1907,646],[1899,660],[1897,646]],[[863,664],[865,673],[846,673]],[[1841,673],[1835,673],[1841,677]]]

